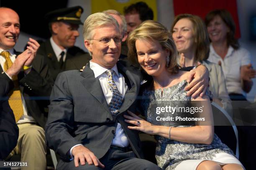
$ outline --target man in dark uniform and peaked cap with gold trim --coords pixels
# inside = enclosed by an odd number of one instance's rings
[[[80,20],[82,12],[82,7],[76,6],[54,10],[46,14],[51,38],[41,43],[38,54],[46,58],[54,80],[60,72],[65,70],[67,59],[85,53],[82,49],[74,46],[76,38],[79,36],[79,24],[82,24]]]

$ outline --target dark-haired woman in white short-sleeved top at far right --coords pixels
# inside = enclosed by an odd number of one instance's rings
[[[253,86],[256,71],[251,67],[250,54],[235,38],[235,23],[227,10],[213,10],[205,17],[209,33],[208,60],[219,64],[224,72],[231,100],[246,100]]]

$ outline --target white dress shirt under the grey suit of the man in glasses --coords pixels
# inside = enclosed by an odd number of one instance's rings
[[[100,86],[104,93],[105,99],[106,99],[107,103],[109,104],[112,99],[113,94],[110,91],[110,88],[108,86],[108,75],[105,73],[105,71],[107,71],[108,69],[106,69],[92,61],[90,61],[90,69],[92,69],[92,71],[95,75],[95,78],[99,79]],[[128,89],[128,86],[125,84],[125,79],[124,79],[123,75],[118,72],[116,65],[112,68],[112,70],[113,70],[113,80],[115,81],[118,91],[124,97],[125,91]],[[78,144],[78,145],[80,145],[80,144]],[[78,145],[75,145],[70,149],[71,157],[72,157],[73,148]],[[128,147],[128,145],[129,145],[128,137],[126,136],[120,123],[118,123],[118,125],[116,127],[115,136],[113,138],[111,145],[118,146],[118,147]]]

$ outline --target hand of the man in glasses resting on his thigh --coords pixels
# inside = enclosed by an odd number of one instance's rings
[[[105,166],[100,162],[100,160],[92,153],[89,149],[82,145],[78,145],[73,148],[72,155],[74,156],[74,165],[79,167],[79,162],[81,165],[85,165],[87,162],[89,165],[95,165],[96,167],[105,168]]]

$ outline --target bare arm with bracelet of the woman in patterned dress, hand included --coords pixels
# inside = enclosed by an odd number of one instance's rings
[[[140,130],[144,133],[159,135],[161,137],[177,140],[180,142],[197,143],[197,144],[210,144],[214,136],[212,109],[208,96],[197,97],[193,100],[193,107],[202,107],[203,112],[200,113],[199,117],[204,117],[205,122],[197,122],[194,127],[165,127],[156,126],[151,124],[135,114],[128,112],[131,116],[124,115],[126,118],[125,122],[134,124],[136,126],[128,126],[129,129]],[[129,120],[128,120],[129,119]]]

